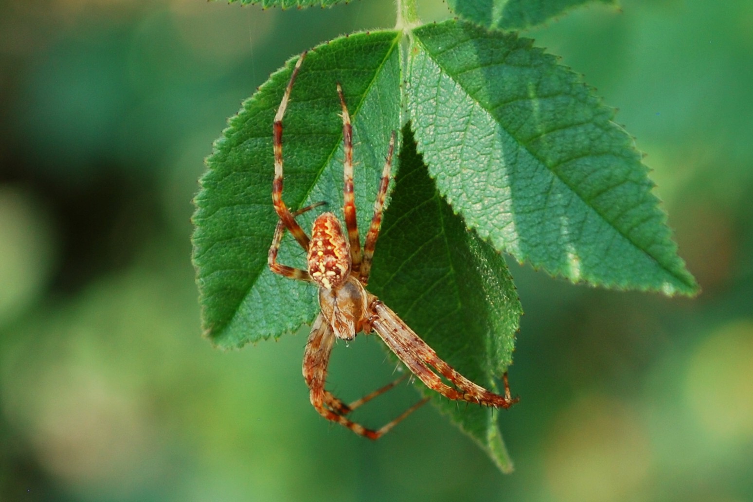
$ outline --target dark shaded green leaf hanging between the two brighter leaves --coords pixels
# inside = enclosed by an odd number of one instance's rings
[[[496,391],[493,377],[512,362],[522,313],[505,260],[437,192],[407,127],[399,163],[369,289],[456,370]],[[458,406],[416,385],[501,470],[512,469],[496,410]]]

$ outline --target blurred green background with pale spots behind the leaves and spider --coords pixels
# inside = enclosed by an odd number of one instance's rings
[[[305,333],[201,338],[189,218],[212,140],[288,56],[392,26],[391,2],[0,0],[0,499],[753,500],[753,3],[622,5],[529,35],[622,109],[704,291],[511,263],[504,476],[431,407],[377,443],[328,424]],[[361,338],[331,382],[355,398],[391,373]],[[416,398],[395,393],[358,418]]]

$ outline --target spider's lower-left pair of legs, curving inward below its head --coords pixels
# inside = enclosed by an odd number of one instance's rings
[[[309,340],[306,342],[306,351],[303,354],[303,379],[306,380],[306,385],[309,387],[309,399],[311,400],[311,404],[316,411],[319,412],[319,415],[322,415],[330,421],[336,421],[344,427],[348,427],[351,431],[355,432],[355,434],[367,437],[370,440],[377,440],[390,431],[392,427],[395,427],[395,425],[403,421],[408,415],[416,411],[416,409],[419,409],[419,407],[427,401],[427,399],[420,400],[418,403],[410,406],[410,408],[402,412],[397,418],[390,421],[388,424],[385,424],[383,427],[380,427],[376,431],[367,429],[363,425],[349,420],[343,416],[345,413],[358,408],[358,406],[373,399],[373,397],[377,397],[383,392],[389,391],[389,389],[397,385],[400,379],[354,401],[351,406],[346,405],[342,400],[334,397],[334,395],[329,391],[326,391],[324,388],[325,379],[327,378],[327,367],[332,347],[334,346],[334,341],[335,336],[332,327],[325,320],[324,316],[319,314],[311,328]],[[343,414],[340,414],[340,412]]]

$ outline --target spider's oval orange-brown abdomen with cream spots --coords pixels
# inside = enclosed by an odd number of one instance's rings
[[[311,278],[326,289],[343,284],[350,275],[350,246],[340,221],[332,213],[319,214],[314,221],[308,266]]]

